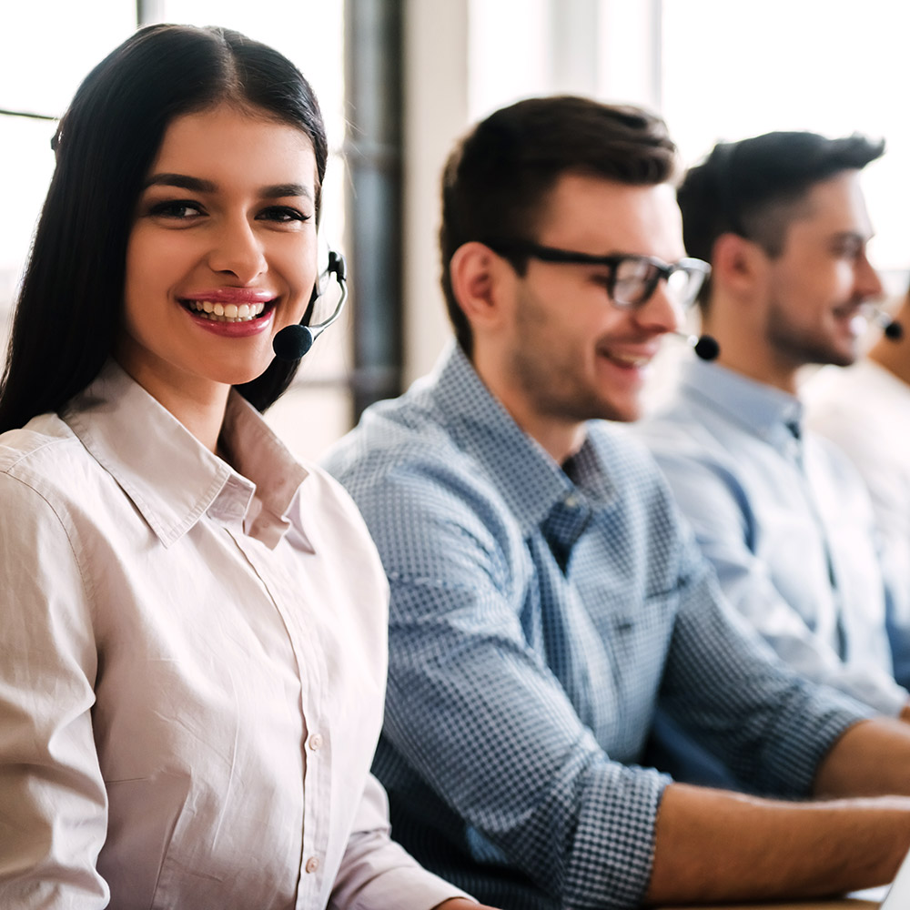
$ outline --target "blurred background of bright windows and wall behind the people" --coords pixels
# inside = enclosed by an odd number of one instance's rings
[[[871,258],[890,294],[910,265],[910,5],[897,0],[5,0],[0,10],[0,341],[54,157],[52,118],[137,25],[226,25],[313,85],[332,157],[321,234],[350,306],[268,420],[318,458],[449,338],[436,252],[440,169],[473,121],[523,96],[659,110],[693,164],[773,129],[884,136],[864,172]],[[26,116],[36,115],[36,116]],[[669,341],[653,397],[683,354]]]

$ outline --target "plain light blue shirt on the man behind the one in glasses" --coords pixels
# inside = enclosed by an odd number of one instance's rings
[[[795,670],[894,715],[907,693],[892,677],[868,492],[802,419],[794,396],[697,360],[633,431],[733,607]]]

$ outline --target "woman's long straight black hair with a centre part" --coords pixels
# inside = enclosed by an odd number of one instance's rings
[[[126,243],[167,126],[220,102],[309,136],[319,189],[328,147],[307,80],[267,45],[224,28],[149,25],[86,76],[54,140],[56,171],[35,231],[0,382],[0,432],[59,410],[95,379],[123,310]],[[238,391],[265,410],[296,363],[274,359]]]

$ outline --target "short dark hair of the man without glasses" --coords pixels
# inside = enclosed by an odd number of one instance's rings
[[[845,170],[862,170],[884,151],[884,140],[858,134],[829,139],[776,132],[718,143],[702,164],[686,172],[677,190],[686,252],[710,262],[717,238],[732,233],[753,240],[768,256],[779,256],[787,227],[815,184]],[[710,279],[699,293],[703,312],[709,287]]]

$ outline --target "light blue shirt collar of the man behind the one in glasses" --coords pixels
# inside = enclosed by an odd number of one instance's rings
[[[715,363],[685,363],[681,387],[687,394],[707,401],[727,420],[774,445],[792,442],[791,427],[803,424],[800,399]]]

